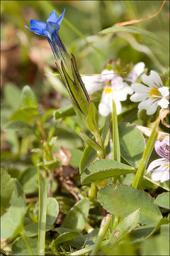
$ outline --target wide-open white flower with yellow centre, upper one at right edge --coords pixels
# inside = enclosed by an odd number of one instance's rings
[[[130,97],[132,102],[140,102],[138,109],[147,110],[147,114],[150,115],[156,112],[158,105],[167,108],[169,105],[169,100],[167,100],[169,88],[163,86],[159,74],[152,70],[150,75],[143,74],[141,79],[145,85],[133,83],[132,90],[135,91],[135,94]]]

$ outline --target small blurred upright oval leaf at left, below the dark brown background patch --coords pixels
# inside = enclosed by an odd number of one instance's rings
[[[35,94],[28,85],[24,86],[21,92],[20,107],[22,110],[27,108],[38,108],[38,102],[35,97]]]

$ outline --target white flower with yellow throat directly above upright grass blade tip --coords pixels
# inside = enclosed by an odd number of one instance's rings
[[[116,75],[113,70],[105,69],[101,75],[88,78],[86,76],[82,76],[81,79],[83,80],[89,94],[92,94],[97,90],[101,90],[103,87],[98,111],[104,117],[113,111],[113,100],[115,101],[116,112],[117,114],[120,114],[122,111],[122,105],[120,102],[126,100],[127,95],[131,95],[133,92],[132,88],[126,82],[123,82],[123,78]]]

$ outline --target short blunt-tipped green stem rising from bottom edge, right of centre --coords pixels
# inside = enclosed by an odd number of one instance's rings
[[[94,244],[93,250],[91,251],[91,255],[97,255],[98,250],[101,248],[101,243],[106,235],[106,232],[111,224],[112,216],[110,214],[106,215],[101,221],[101,228],[98,232],[98,236],[96,238],[96,242]]]

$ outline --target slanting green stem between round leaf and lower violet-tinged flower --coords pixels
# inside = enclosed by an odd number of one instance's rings
[[[140,166],[137,169],[137,173],[136,173],[134,181],[132,183],[132,188],[140,188],[140,186],[142,184],[143,176],[145,174],[145,169],[147,167],[149,157],[152,153],[152,150],[154,149],[154,143],[157,140],[157,136],[158,136],[157,127],[159,125],[159,121],[160,121],[160,119],[158,117],[157,120],[155,121],[154,128],[152,129],[152,133],[148,139],[147,146],[142,155],[142,159],[140,161]]]

